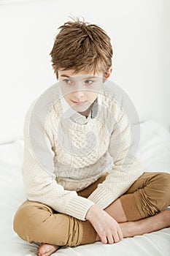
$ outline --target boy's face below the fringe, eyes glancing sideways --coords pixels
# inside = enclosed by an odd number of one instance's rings
[[[96,75],[74,70],[58,70],[58,80],[61,83],[61,91],[66,102],[82,115],[88,115],[93,102],[98,97],[98,92],[104,83],[102,73]]]

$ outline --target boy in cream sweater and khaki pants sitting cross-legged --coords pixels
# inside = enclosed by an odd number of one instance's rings
[[[131,102],[109,83],[112,46],[99,26],[64,23],[50,55],[58,83],[36,99],[24,125],[27,199],[20,238],[60,246],[112,244],[170,226],[170,175],[144,173]],[[139,127],[139,126],[138,126]]]

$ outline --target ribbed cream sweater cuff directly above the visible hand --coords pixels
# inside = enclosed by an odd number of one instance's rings
[[[93,205],[94,203],[85,197],[72,197],[66,205],[65,213],[74,218],[86,220],[85,215],[87,214],[90,206]]]

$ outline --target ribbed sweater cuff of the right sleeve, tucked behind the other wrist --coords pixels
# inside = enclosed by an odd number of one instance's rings
[[[109,206],[114,200],[110,192],[107,192],[100,187],[95,189],[88,199],[101,209],[107,208],[107,206]]]

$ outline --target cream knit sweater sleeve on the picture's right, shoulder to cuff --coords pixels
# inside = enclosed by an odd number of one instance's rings
[[[109,141],[109,154],[114,165],[109,175],[88,197],[104,209],[129,187],[143,173],[143,162],[139,155],[140,125],[131,124],[125,108],[115,105],[112,110],[115,125]]]

